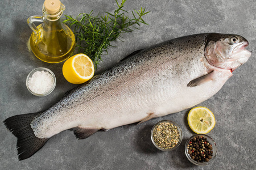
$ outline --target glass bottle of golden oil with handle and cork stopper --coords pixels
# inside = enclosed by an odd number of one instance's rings
[[[46,0],[43,16],[31,16],[27,23],[32,29],[30,46],[36,57],[44,62],[57,63],[71,56],[75,49],[75,36],[60,22],[65,6],[59,0]],[[34,22],[43,22],[36,25]]]

